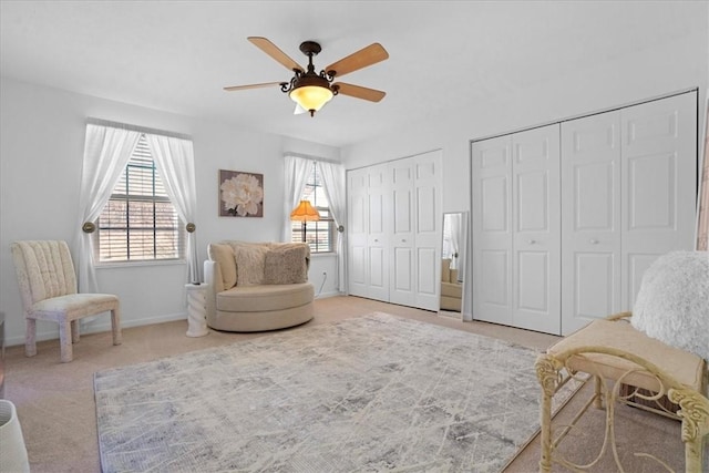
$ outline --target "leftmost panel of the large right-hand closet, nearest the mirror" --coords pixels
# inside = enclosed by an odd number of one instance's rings
[[[473,319],[512,325],[512,137],[472,145]]]

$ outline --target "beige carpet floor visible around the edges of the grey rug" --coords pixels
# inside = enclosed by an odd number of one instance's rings
[[[435,312],[394,306],[357,297],[333,297],[316,300],[315,319],[309,325],[327,323],[372,311],[389,312],[430,323],[510,340],[543,350],[558,338],[527,330],[484,322],[461,322]],[[11,317],[11,315],[8,315]],[[123,345],[113,347],[110,332],[82,336],[74,346],[74,361],[59,362],[59,342],[38,343],[38,354],[25,358],[22,346],[6,352],[6,398],[18,408],[32,472],[97,472],[93,373],[106,368],[155,360],[172,354],[232,343],[268,333],[229,333],[210,331],[206,337],[185,337],[187,322],[174,321],[123,330]],[[289,329],[297,330],[298,328]],[[532,369],[532,367],[531,367]],[[584,392],[574,397],[556,418],[565,422],[584,401]],[[592,412],[582,420],[582,430],[562,444],[569,459],[588,461],[603,439],[603,413]],[[684,470],[684,449],[679,440],[679,423],[637,409],[618,411],[618,443],[628,472],[661,471],[656,463],[635,457],[633,451],[651,452]],[[640,449],[636,449],[639,446]],[[615,471],[609,455],[593,471]],[[537,470],[538,445],[530,443],[507,467],[507,472]],[[563,471],[563,470],[555,470]]]

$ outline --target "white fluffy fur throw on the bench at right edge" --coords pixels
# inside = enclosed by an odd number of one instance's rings
[[[653,263],[643,275],[630,323],[709,360],[709,254],[672,251]]]

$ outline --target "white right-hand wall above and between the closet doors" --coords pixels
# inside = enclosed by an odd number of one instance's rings
[[[705,6],[703,21],[702,30],[633,56],[588,64],[576,74],[533,89],[511,91],[504,97],[449,111],[407,125],[398,133],[345,147],[342,163],[352,169],[441,148],[443,212],[470,210],[471,141],[692,88],[699,89],[700,110],[703,110],[709,88],[709,3]],[[699,122],[699,130],[703,130],[703,116],[700,115]],[[470,263],[469,259],[467,268]],[[466,295],[471,294],[469,286],[465,290]],[[466,318],[471,317],[470,300],[466,297],[463,309]]]

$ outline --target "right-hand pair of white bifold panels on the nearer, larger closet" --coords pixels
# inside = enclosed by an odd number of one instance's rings
[[[631,310],[645,270],[693,248],[697,93],[562,124],[562,333]]]

